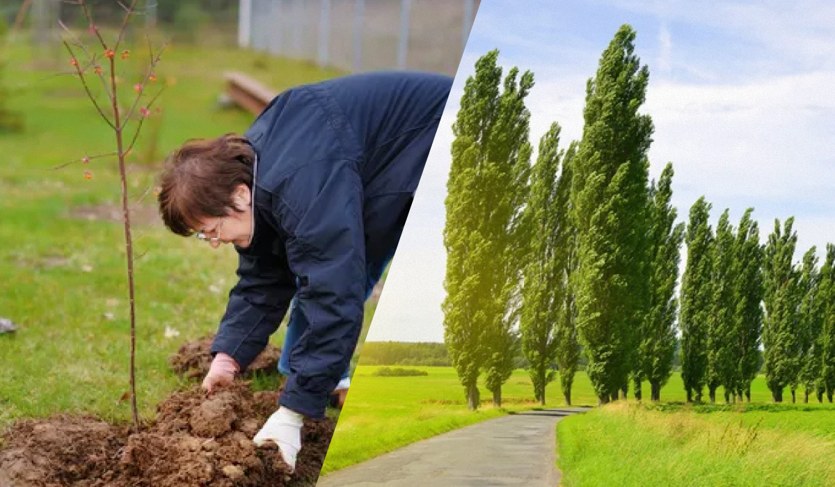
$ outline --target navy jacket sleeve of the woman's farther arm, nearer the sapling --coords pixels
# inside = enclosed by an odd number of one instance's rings
[[[243,372],[281,324],[296,286],[289,269],[267,265],[245,249],[239,250],[237,274],[211,353],[229,354]]]

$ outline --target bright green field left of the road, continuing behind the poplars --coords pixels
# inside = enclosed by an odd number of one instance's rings
[[[340,416],[337,432],[322,469],[323,474],[467,424],[515,410],[539,407],[539,404],[532,400],[534,388],[528,373],[524,370],[515,371],[513,377],[505,384],[502,409],[493,408],[490,404],[492,396],[482,386],[483,408],[473,413],[467,410],[463,388],[458,383],[453,368],[417,367],[428,372],[428,376],[377,377],[373,373],[378,368],[363,365],[357,368],[346,408]],[[649,393],[649,385],[645,384],[644,393]],[[766,388],[764,378],[760,377],[754,381],[751,396],[755,403],[771,401],[771,393]],[[679,374],[673,374],[670,383],[661,390],[661,398],[672,403],[685,400]],[[559,381],[551,383],[546,389],[546,399],[548,406],[564,405]],[[576,375],[572,399],[573,405],[593,406],[597,403],[594,389],[584,373]],[[676,408],[675,405],[670,407]],[[835,430],[835,423],[832,423],[835,421],[835,413],[831,416],[819,416],[810,424],[811,416],[803,415],[790,406],[786,408],[791,410],[781,413],[776,413],[776,409],[770,405],[768,407],[771,409],[760,414],[767,418],[765,422],[774,424],[774,429],[792,431],[796,429],[792,424],[794,422],[817,432]],[[817,410],[820,407],[810,404],[809,408]],[[835,409],[826,406],[824,409],[835,412]],[[721,419],[726,415],[727,420],[738,421],[735,414],[716,411],[713,416]],[[743,421],[745,424],[754,424],[759,421],[759,417],[750,413],[744,416]],[[618,442],[619,439],[614,435],[612,441]]]

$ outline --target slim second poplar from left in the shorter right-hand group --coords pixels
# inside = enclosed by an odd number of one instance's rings
[[[706,385],[711,403],[716,402],[716,388],[725,388],[725,402],[731,402],[731,392],[736,390],[736,347],[734,347],[734,289],[733,274],[735,240],[728,210],[716,224],[713,243],[713,303],[707,333]]]

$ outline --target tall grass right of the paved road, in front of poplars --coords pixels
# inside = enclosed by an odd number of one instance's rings
[[[557,427],[567,486],[833,485],[832,405],[615,403]]]

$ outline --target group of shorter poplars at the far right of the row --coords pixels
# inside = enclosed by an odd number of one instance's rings
[[[835,246],[818,266],[812,247],[794,261],[793,218],[761,245],[751,209],[736,230],[726,210],[716,233],[708,223],[711,204],[691,208],[686,271],[681,283],[681,377],[687,400],[711,402],[723,388],[726,402],[751,400],[751,382],[761,370],[774,402],[802,386],[822,402],[835,392]],[[762,347],[761,347],[762,345]]]

